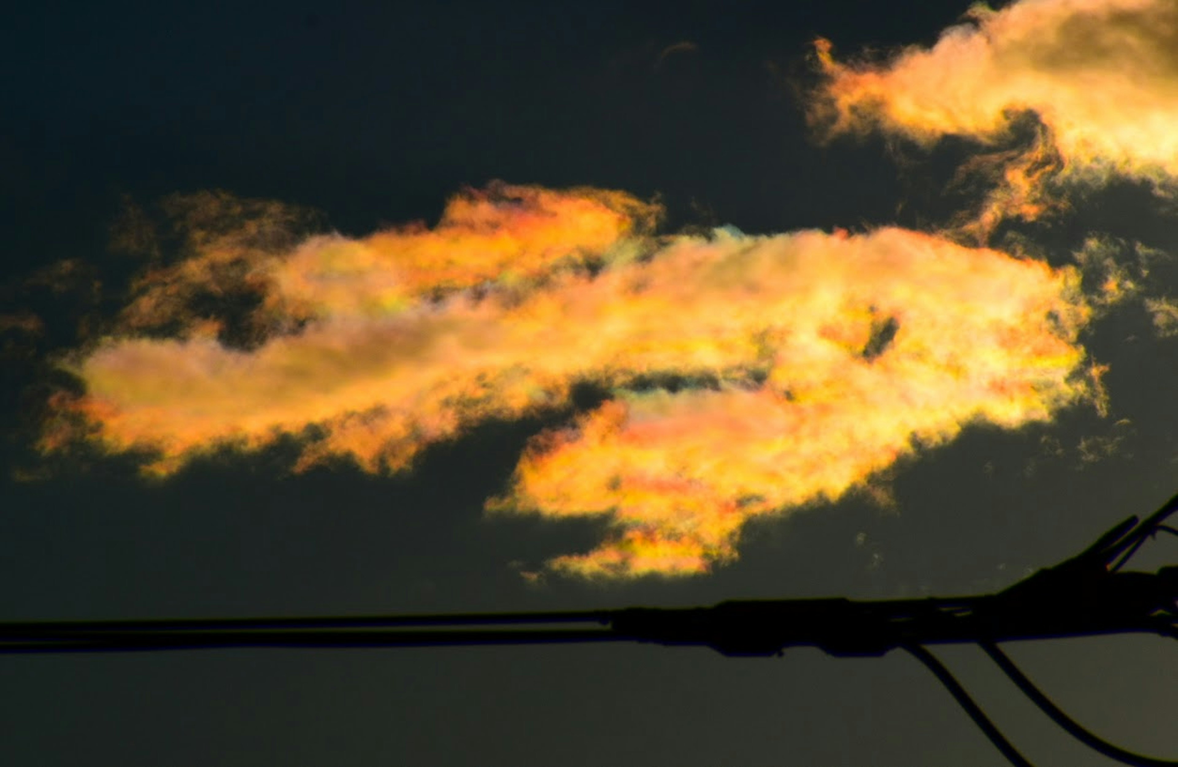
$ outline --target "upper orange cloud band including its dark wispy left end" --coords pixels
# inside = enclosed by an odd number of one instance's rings
[[[210,299],[240,305],[252,295],[260,300],[253,339],[315,318],[388,315],[428,296],[631,258],[617,246],[661,213],[623,192],[492,184],[451,198],[432,229],[415,222],[363,239],[298,239],[310,214],[278,202],[203,192],[166,208],[179,219],[186,258],[144,275],[124,327],[217,335],[225,328],[207,314]]]

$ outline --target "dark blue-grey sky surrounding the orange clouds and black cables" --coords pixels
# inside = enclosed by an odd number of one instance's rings
[[[106,241],[128,196],[150,206],[226,189],[310,206],[356,235],[434,221],[449,195],[494,179],[657,194],[669,229],[920,228],[953,213],[941,189],[958,149],[922,154],[880,138],[820,145],[798,88],[813,84],[816,35],[846,52],[928,45],[965,9],[957,2],[246,6],[26,4],[0,29],[4,300],[48,328],[32,352],[12,341],[4,361],[5,620],[993,591],[1176,489],[1176,340],[1154,338],[1140,305],[1118,307],[1085,336],[1110,366],[1107,416],[1078,407],[1018,432],[968,429],[892,472],[894,509],[853,496],[759,521],[740,561],[699,578],[522,579],[512,563],[585,549],[600,532],[593,521],[483,514],[535,422],[481,426],[398,476],[292,475],[279,446],[198,460],[166,480],[141,479],[121,458],[55,459],[46,478],[19,480],[35,463],[28,414],[44,400],[45,355],[71,345],[71,302],[81,300],[25,280],[62,259],[90,265],[107,287],[125,279],[133,267]],[[680,42],[693,45],[661,56]],[[1173,222],[1164,201],[1123,182],[1034,233],[1060,253],[1090,232],[1172,251]],[[1152,279],[1167,279],[1165,269]],[[1085,460],[1086,438],[1114,449]],[[1061,454],[1044,458],[1057,442]],[[1163,562],[1163,548],[1143,566]],[[1159,755],[1178,749],[1173,652],[1143,638],[1011,648],[1080,721]],[[980,651],[942,656],[1033,760],[1106,763]],[[0,689],[0,749],[13,765],[1005,763],[899,654],[729,660],[618,646],[6,656]]]

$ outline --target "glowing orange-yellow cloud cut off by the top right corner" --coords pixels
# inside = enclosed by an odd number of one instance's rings
[[[968,21],[884,64],[839,62],[819,40],[826,82],[812,116],[836,133],[993,144],[1033,112],[1046,131],[992,200],[1025,218],[1041,212],[1045,168],[1087,180],[1178,175],[1178,5],[1021,0],[974,6]]]

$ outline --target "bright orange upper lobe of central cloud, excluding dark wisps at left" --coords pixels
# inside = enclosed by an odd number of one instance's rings
[[[432,229],[315,238],[269,265],[269,274],[276,295],[312,315],[386,314],[426,293],[633,256],[620,247],[624,235],[649,229],[659,214],[623,192],[496,185],[452,198]]]

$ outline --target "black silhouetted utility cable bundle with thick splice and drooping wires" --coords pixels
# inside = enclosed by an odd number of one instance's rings
[[[998,642],[1149,633],[1178,639],[1178,567],[1118,572],[1163,522],[1178,495],[1139,522],[1131,516],[1094,543],[995,594],[856,601],[843,598],[730,600],[710,607],[582,612],[462,613],[0,622],[0,654],[121,653],[206,648],[379,648],[643,642],[710,647],[730,656],[774,656],[818,647],[840,658],[906,649],[945,685],[1015,767],[1031,767],[952,673],[926,648],[978,643],[1014,685],[1072,736],[1132,767],[1178,767],[1119,748],[1068,718]]]

